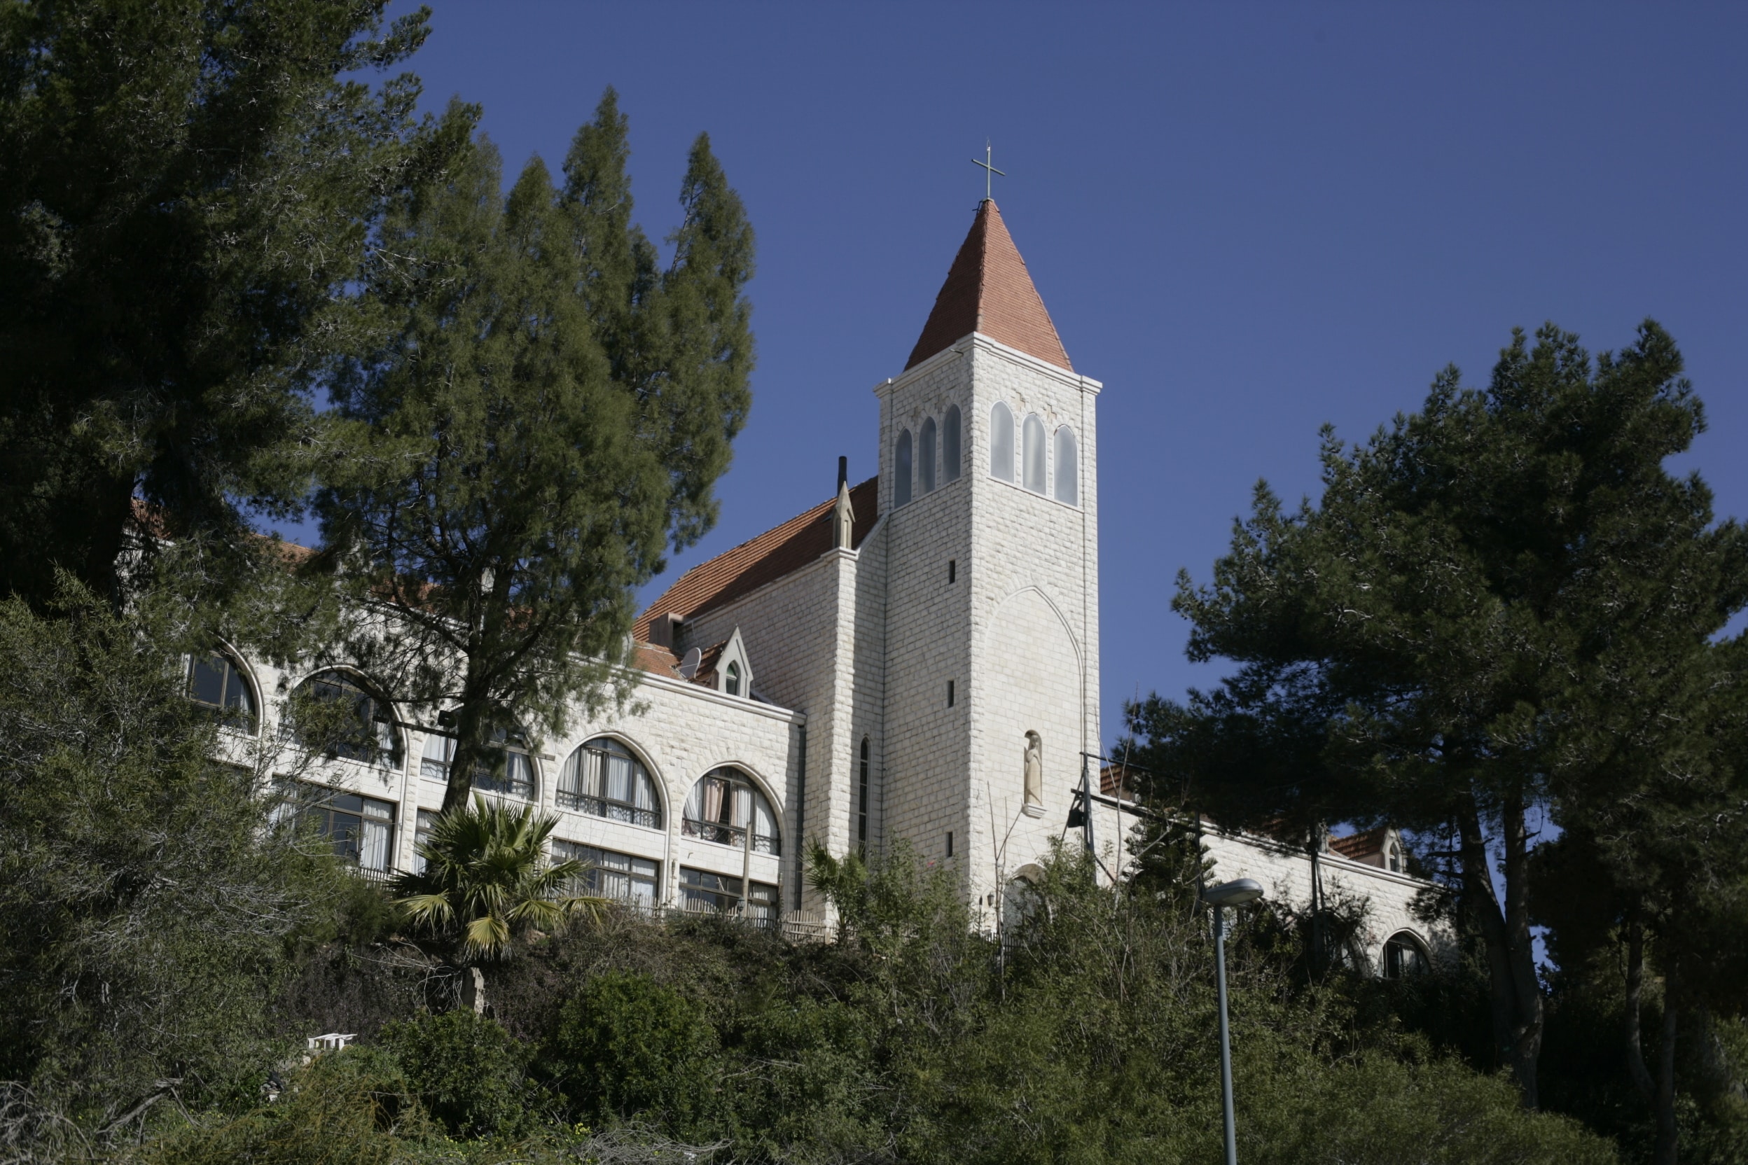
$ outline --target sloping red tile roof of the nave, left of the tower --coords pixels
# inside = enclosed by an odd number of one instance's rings
[[[850,505],[857,512],[855,527],[850,531],[853,547],[860,547],[874,529],[874,519],[879,515],[877,482],[877,477],[871,477],[850,489]],[[781,526],[680,575],[666,594],[638,617],[633,629],[636,641],[649,643],[650,622],[657,615],[671,611],[682,620],[690,620],[752,594],[830,550],[836,501],[837,498],[829,498],[806,514],[797,514]]]

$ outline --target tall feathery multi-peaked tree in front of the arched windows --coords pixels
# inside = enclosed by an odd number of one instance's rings
[[[633,590],[715,519],[746,416],[739,197],[699,136],[662,269],[626,157],[612,91],[563,190],[537,157],[502,196],[475,141],[390,217],[365,295],[381,342],[336,379],[353,435],[318,510],[369,613],[350,651],[453,716],[446,809],[507,734],[624,693]]]

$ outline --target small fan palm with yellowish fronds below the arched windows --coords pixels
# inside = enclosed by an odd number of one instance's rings
[[[437,819],[420,845],[423,873],[395,879],[395,905],[418,927],[461,940],[460,957],[484,987],[479,962],[510,957],[530,929],[558,929],[577,915],[598,917],[605,898],[572,894],[580,861],[547,865],[544,845],[558,824],[531,805],[512,810],[475,795]],[[475,1010],[482,1008],[475,997]]]

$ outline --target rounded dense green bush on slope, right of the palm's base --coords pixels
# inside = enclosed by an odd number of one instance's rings
[[[645,1120],[683,1135],[718,1109],[717,1032],[645,975],[591,978],[559,1011],[542,1065],[589,1123]]]

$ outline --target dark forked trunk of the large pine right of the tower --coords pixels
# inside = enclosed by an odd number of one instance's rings
[[[1488,985],[1493,1003],[1493,1041],[1509,1064],[1523,1092],[1524,1107],[1536,1107],[1536,1058],[1542,1053],[1542,983],[1535,975],[1535,947],[1530,940],[1528,908],[1528,831],[1523,802],[1507,798],[1502,810],[1505,831],[1505,906],[1493,891],[1481,810],[1474,796],[1465,800],[1458,830],[1461,835],[1463,889],[1481,924],[1488,952]]]

